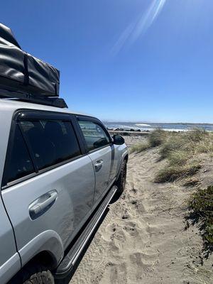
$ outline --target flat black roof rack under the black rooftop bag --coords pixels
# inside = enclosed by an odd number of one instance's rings
[[[67,108],[64,99],[58,97],[46,97],[38,94],[27,94],[23,92],[13,92],[6,89],[0,89],[0,99],[13,99],[21,102],[30,102],[33,104],[43,104],[50,107]]]

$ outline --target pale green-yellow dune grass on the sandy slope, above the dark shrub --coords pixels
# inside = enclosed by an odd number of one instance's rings
[[[181,133],[156,129],[148,136],[147,142],[133,146],[131,152],[139,153],[157,146],[160,147],[160,159],[166,159],[168,163],[158,171],[155,182],[173,182],[200,170],[201,153],[213,155],[213,134],[202,129]]]

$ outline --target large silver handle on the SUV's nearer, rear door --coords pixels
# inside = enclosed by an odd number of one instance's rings
[[[53,206],[55,200],[57,200],[58,192],[52,190],[45,195],[42,195],[35,200],[29,207],[29,213],[31,219],[36,219],[40,217],[40,215],[44,214],[50,207]]]

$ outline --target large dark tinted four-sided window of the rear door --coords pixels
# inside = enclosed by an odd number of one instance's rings
[[[21,121],[38,170],[80,155],[70,121]]]

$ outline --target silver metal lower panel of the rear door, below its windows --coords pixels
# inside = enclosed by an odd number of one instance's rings
[[[29,206],[52,190],[58,192],[57,200],[47,212],[32,220]],[[13,224],[18,251],[46,230],[57,232],[66,249],[72,235],[90,214],[93,195],[94,170],[87,155],[3,190],[2,198]]]

